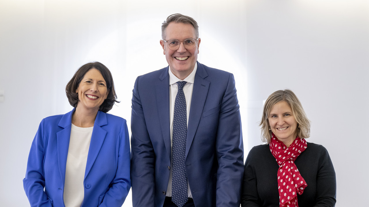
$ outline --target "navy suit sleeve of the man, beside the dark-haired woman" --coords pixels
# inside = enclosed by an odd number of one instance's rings
[[[154,206],[155,154],[148,130],[136,79],[132,96],[131,115],[131,180],[133,207]]]

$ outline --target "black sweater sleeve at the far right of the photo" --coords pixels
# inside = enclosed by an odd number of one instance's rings
[[[333,207],[336,203],[336,173],[328,151],[323,147],[317,174],[317,199],[314,207]]]

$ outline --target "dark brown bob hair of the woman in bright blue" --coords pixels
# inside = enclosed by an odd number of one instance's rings
[[[77,107],[79,99],[76,90],[79,84],[81,83],[82,78],[91,69],[96,69],[100,71],[101,75],[103,76],[106,82],[107,89],[109,90],[108,96],[106,97],[105,101],[100,105],[99,108],[100,111],[106,113],[111,108],[113,108],[114,102],[119,103],[119,101],[116,100],[117,94],[115,94],[113,77],[111,76],[109,69],[99,62],[91,62],[84,64],[76,71],[72,79],[70,79],[69,83],[65,87],[65,92],[68,97],[68,101],[70,105],[72,105],[75,108]]]

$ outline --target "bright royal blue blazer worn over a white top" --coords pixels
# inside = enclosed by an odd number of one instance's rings
[[[39,125],[23,179],[32,207],[65,207],[63,189],[74,111],[46,117]],[[123,118],[97,112],[83,185],[81,207],[122,206],[131,187],[130,143]]]

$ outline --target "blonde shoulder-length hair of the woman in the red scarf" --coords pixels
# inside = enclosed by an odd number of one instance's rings
[[[269,113],[273,106],[280,101],[286,101],[291,107],[293,116],[297,122],[297,136],[300,138],[310,137],[310,120],[307,119],[304,109],[291,90],[279,90],[272,93],[264,104],[263,116],[261,118],[259,126],[261,126],[261,140],[266,143],[270,143],[270,137],[272,136],[272,130],[269,125]]]

